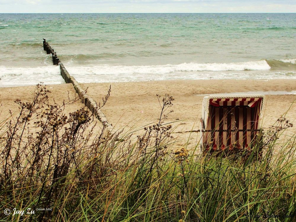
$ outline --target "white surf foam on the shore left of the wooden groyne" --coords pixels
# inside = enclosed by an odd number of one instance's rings
[[[58,66],[5,67],[0,66],[0,87],[64,83]]]

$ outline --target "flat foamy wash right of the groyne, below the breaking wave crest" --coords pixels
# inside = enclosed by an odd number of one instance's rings
[[[98,72],[99,68],[99,72]],[[241,70],[241,71],[174,71],[170,73],[127,73],[101,70],[102,67],[67,67],[78,82],[130,82],[158,80],[197,80],[197,79],[296,79],[296,72],[271,72],[270,70]],[[111,70],[112,71],[112,70]]]

